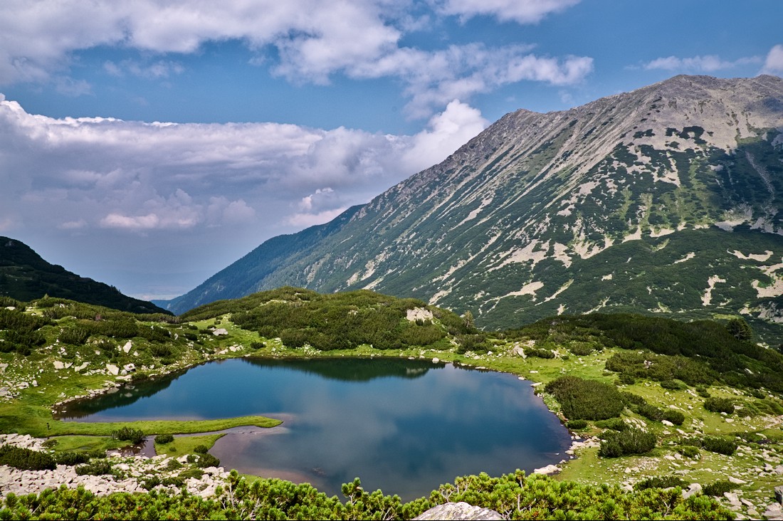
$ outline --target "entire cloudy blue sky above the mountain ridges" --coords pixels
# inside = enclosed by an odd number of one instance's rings
[[[4,0],[0,234],[143,298],[503,114],[783,74],[783,2]]]

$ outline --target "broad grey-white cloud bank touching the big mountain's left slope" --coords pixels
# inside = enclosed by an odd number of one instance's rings
[[[0,219],[80,233],[323,223],[442,161],[487,125],[453,100],[414,136],[276,123],[47,118],[0,101]]]

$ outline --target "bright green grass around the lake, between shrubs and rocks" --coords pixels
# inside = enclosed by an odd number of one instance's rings
[[[225,306],[225,303],[221,306]],[[218,308],[213,308],[218,309]],[[223,309],[218,309],[222,311]],[[31,312],[39,312],[40,309],[31,308]],[[616,374],[605,371],[604,364],[612,354],[622,351],[622,349],[612,347],[603,349],[601,352],[594,351],[586,356],[574,356],[568,353],[565,346],[568,345],[568,338],[561,338],[561,343],[539,342],[540,345],[546,345],[550,349],[555,349],[558,356],[553,359],[541,358],[522,358],[513,353],[515,346],[525,346],[525,335],[516,334],[515,339],[494,338],[491,340],[491,353],[456,353],[455,349],[444,349],[444,342],[438,342],[438,348],[432,347],[406,347],[404,349],[373,349],[370,346],[359,346],[356,349],[339,349],[328,352],[319,352],[315,349],[288,349],[276,338],[262,338],[254,331],[247,331],[236,327],[230,320],[230,314],[226,313],[215,317],[215,313],[202,313],[202,320],[197,320],[191,324],[171,325],[171,331],[179,331],[183,335],[186,331],[198,331],[197,342],[189,342],[178,345],[179,340],[171,340],[172,345],[178,349],[179,360],[174,363],[162,366],[160,360],[150,355],[149,349],[151,343],[145,343],[143,338],[134,338],[133,349],[130,353],[114,355],[119,356],[119,360],[113,360],[117,364],[122,364],[123,356],[129,356],[129,359],[135,360],[139,371],[134,378],[142,375],[161,374],[168,371],[178,371],[193,364],[203,363],[207,360],[219,360],[222,358],[236,356],[269,356],[269,357],[301,357],[301,356],[395,356],[395,357],[414,357],[420,359],[429,359],[438,357],[441,360],[451,361],[456,364],[466,364],[475,367],[486,367],[495,371],[505,371],[532,381],[547,383],[561,376],[562,374],[572,374],[582,378],[589,378],[601,382],[614,382]],[[437,320],[436,320],[437,322]],[[55,321],[52,326],[46,326],[48,342],[54,342],[53,338],[56,332],[65,327],[74,327],[78,324],[71,317],[63,317]],[[147,324],[152,327],[154,324]],[[192,329],[190,327],[195,327]],[[212,335],[208,327],[222,327],[228,331],[228,335]],[[51,331],[49,331],[49,328]],[[206,332],[204,332],[206,331]],[[510,335],[513,336],[513,335]],[[172,337],[173,338],[173,337]],[[182,337],[180,337],[182,338]],[[449,335],[449,338],[453,339]],[[92,338],[90,340],[92,342]],[[251,349],[251,342],[263,342],[261,349]],[[118,342],[121,345],[122,342]],[[149,345],[148,345],[149,344]],[[450,346],[450,344],[446,344]],[[233,349],[232,349],[233,348]],[[117,349],[121,349],[120,346]],[[90,353],[94,356],[95,350],[92,346],[74,346],[65,348],[70,356],[70,351],[75,350],[71,360],[87,360]],[[133,353],[139,353],[133,356]],[[52,370],[53,361],[61,360],[62,352],[57,349],[47,349],[42,347],[34,351],[30,356],[23,357],[16,353],[0,353],[0,361],[9,364],[5,371],[0,374],[0,378],[5,382],[31,382],[36,379],[38,386],[30,386],[20,391],[16,400],[0,405],[0,432],[23,432],[33,436],[59,436],[60,443],[58,448],[63,447],[94,447],[100,445],[107,447],[105,436],[117,427],[114,424],[90,424],[59,422],[52,418],[51,407],[54,403],[63,400],[69,396],[83,395],[88,389],[101,389],[106,385],[107,380],[114,378],[106,374],[80,374],[70,369],[60,371]],[[92,359],[89,359],[92,360]],[[157,361],[158,364],[153,364]],[[92,360],[91,367],[100,367],[106,363],[106,360]],[[154,368],[153,368],[154,367]],[[88,372],[88,371],[85,371]],[[675,458],[676,443],[680,438],[680,433],[676,429],[666,428],[657,422],[646,422],[649,429],[659,437],[658,447],[651,453],[644,456],[623,457],[616,459],[597,458],[596,449],[584,449],[579,453],[579,458],[569,461],[564,466],[564,471],[559,475],[559,479],[572,479],[579,482],[590,483],[623,483],[628,479],[640,479],[641,476],[665,476],[672,472],[680,471],[684,479],[697,481],[702,484],[712,482],[716,479],[726,479],[727,476],[742,477],[749,483],[740,488],[745,494],[744,497],[752,500],[762,501],[771,494],[774,487],[774,480],[769,477],[751,479],[754,469],[763,468],[764,455],[767,454],[767,460],[772,461],[774,465],[783,463],[774,463],[775,458],[783,459],[783,431],[780,429],[781,417],[771,417],[763,414],[751,414],[746,417],[735,414],[732,418],[725,418],[720,414],[714,414],[705,411],[702,404],[704,399],[701,396],[693,396],[686,391],[666,391],[656,382],[638,381],[633,385],[623,386],[624,390],[644,396],[649,403],[657,407],[669,407],[675,405],[681,407],[687,420],[680,429],[685,433],[702,432],[705,435],[727,435],[742,434],[747,432],[761,432],[765,434],[769,443],[761,446],[751,443],[741,443],[742,446],[749,447],[749,450],[742,450],[733,457],[721,456],[720,454],[708,453],[702,450],[700,460],[684,462]],[[759,403],[759,399],[744,391],[731,389],[726,386],[713,385],[709,388],[713,396],[733,396],[736,400],[747,406],[745,410],[751,411],[754,404]],[[695,394],[695,393],[694,393]],[[543,399],[553,411],[557,411],[557,403],[550,396],[543,396]],[[780,403],[779,396],[774,398]],[[626,410],[626,418],[643,420]],[[732,421],[733,420],[733,421]],[[226,420],[216,420],[208,422],[132,422],[132,424],[123,423],[122,425],[132,425],[143,429],[147,434],[160,433],[182,433],[182,432],[214,432],[220,429],[226,429],[236,425],[260,425],[272,426],[277,421],[270,418],[246,417],[229,418]],[[49,424],[49,428],[47,428]],[[597,434],[600,429],[594,425],[585,432],[586,434]],[[85,435],[103,436],[103,441],[91,440]],[[203,443],[211,446],[219,435],[199,436],[198,438],[178,438],[175,444],[167,446],[164,450],[173,454],[185,454],[192,450],[195,444]],[[101,445],[103,443],[103,445]],[[161,447],[163,448],[163,447]],[[771,456],[770,456],[771,454]],[[669,458],[667,458],[669,457]],[[771,459],[770,459],[771,458]],[[627,469],[627,470],[626,470]],[[393,491],[388,491],[392,492]]]

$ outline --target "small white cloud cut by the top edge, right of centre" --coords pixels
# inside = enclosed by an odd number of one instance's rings
[[[443,13],[472,16],[495,16],[500,21],[519,24],[536,24],[550,13],[560,13],[576,5],[580,0],[446,0]]]

